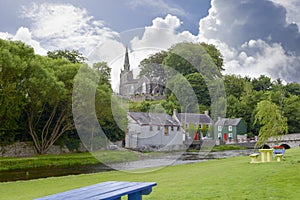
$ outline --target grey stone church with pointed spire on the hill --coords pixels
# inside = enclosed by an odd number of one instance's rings
[[[159,100],[164,98],[164,94],[165,84],[159,77],[142,76],[139,79],[133,77],[126,48],[124,65],[120,73],[119,95],[132,100]]]

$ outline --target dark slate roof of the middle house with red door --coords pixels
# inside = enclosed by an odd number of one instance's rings
[[[178,113],[177,118],[181,122],[187,123],[202,123],[202,124],[210,124],[213,123],[212,119],[205,114],[197,114],[197,113]]]

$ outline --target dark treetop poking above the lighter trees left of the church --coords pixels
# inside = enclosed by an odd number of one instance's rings
[[[87,60],[79,51],[77,50],[55,50],[48,51],[47,55],[52,59],[61,59],[65,58],[71,63],[84,63]]]

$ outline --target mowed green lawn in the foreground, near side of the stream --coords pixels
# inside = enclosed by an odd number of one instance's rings
[[[249,157],[166,167],[149,173],[105,172],[0,183],[0,199],[33,199],[104,181],[153,181],[143,199],[299,199],[300,148],[277,163],[249,164]]]

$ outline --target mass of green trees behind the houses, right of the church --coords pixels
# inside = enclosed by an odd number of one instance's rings
[[[179,112],[197,110],[204,113],[209,110],[214,121],[217,115],[243,118],[250,137],[259,135],[264,128],[267,128],[265,132],[274,136],[287,132],[300,133],[300,85],[283,84],[280,79],[272,81],[265,75],[258,78],[222,75],[223,58],[214,45],[176,44],[168,51],[142,60],[140,69],[140,76],[160,77],[165,81],[166,98],[131,102],[131,110],[168,114],[172,114],[174,108]],[[174,71],[177,74],[172,76]],[[223,96],[214,99],[214,93],[220,93],[222,85],[225,90],[221,93]],[[185,91],[189,87],[192,88],[191,95]],[[191,98],[194,94],[196,99]],[[222,108],[224,113],[212,113],[215,107]]]

